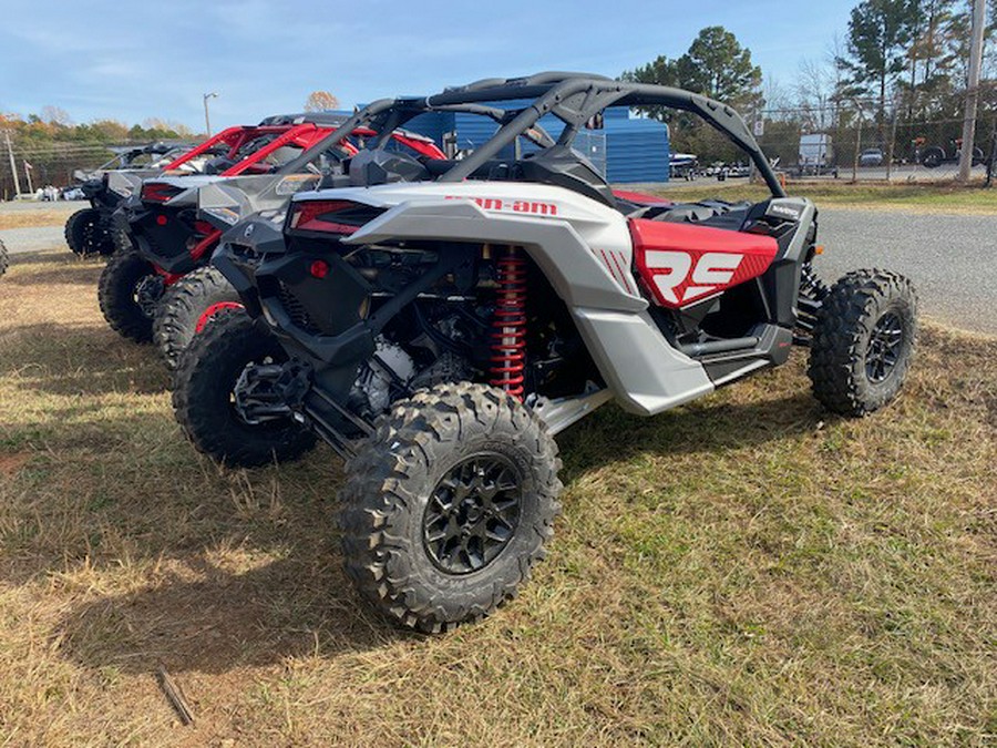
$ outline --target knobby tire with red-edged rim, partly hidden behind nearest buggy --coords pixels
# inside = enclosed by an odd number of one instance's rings
[[[197,268],[167,288],[153,320],[153,341],[166,368],[176,369],[181,353],[203,326],[203,315],[216,305],[238,303],[238,291],[213,267]]]

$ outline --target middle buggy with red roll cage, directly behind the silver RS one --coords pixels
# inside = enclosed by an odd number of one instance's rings
[[[306,121],[269,136],[265,146],[227,164],[220,174],[145,180],[141,189],[121,206],[114,221],[127,246],[107,263],[97,291],[101,309],[114,330],[140,342],[152,340],[154,320],[165,312],[165,322],[157,327],[165,331],[161,347],[172,363],[185,345],[189,327],[176,329],[175,325],[177,306],[172,301],[185,298],[182,288],[198,288],[224,297],[213,304],[237,300],[227,285],[202,277],[205,274],[198,274],[174,293],[167,291],[184,276],[207,265],[222,228],[228,228],[241,212],[284,205],[295,191],[316,186],[323,170],[357,152],[347,136],[366,134],[347,131],[341,133],[340,143],[330,145],[330,135],[339,131],[347,117],[300,116]],[[420,153],[443,155],[429,139],[403,133],[395,136],[400,144]],[[202,201],[212,207],[199,211]]]

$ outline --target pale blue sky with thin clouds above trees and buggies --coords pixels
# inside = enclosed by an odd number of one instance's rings
[[[349,106],[541,70],[616,75],[681,54],[713,24],[787,85],[801,60],[826,55],[856,1],[0,0],[0,111],[201,129],[202,93],[217,91],[218,127],[300,111],[315,90]]]

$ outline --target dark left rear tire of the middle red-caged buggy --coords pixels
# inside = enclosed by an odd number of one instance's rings
[[[104,319],[115,332],[135,342],[152,340],[153,299],[140,304],[143,281],[154,281],[156,269],[136,252],[119,252],[104,266],[97,299]]]

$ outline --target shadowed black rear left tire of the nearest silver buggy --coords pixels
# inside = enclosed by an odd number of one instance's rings
[[[235,407],[233,393],[248,365],[285,360],[276,338],[245,311],[212,317],[181,355],[173,383],[174,416],[199,452],[251,468],[294,460],[315,445],[315,436],[290,418],[254,424]]]

